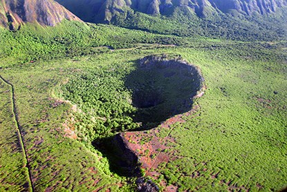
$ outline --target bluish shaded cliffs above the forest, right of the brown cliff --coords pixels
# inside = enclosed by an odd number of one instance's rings
[[[237,11],[242,15],[265,15],[287,6],[286,0],[56,0],[85,21],[111,21],[126,10],[149,15],[171,15],[175,8],[187,8],[198,17]],[[89,17],[86,17],[89,15]]]

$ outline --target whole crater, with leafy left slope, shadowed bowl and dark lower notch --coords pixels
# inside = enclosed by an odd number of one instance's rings
[[[59,93],[85,111],[75,116],[81,122],[79,138],[91,140],[112,172],[138,177],[138,157],[116,133],[156,128],[190,111],[203,94],[203,82],[199,68],[180,57],[151,55],[127,68],[104,66],[81,74]]]

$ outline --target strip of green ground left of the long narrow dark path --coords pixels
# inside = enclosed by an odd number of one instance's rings
[[[3,79],[0,93],[0,191],[24,191],[30,185],[27,162],[13,114],[12,90]]]

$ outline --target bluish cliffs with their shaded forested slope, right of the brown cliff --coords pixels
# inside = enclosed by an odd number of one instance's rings
[[[287,34],[287,5],[281,0],[58,2],[84,21],[179,37],[274,41]]]

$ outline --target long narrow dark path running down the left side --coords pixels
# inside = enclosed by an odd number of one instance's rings
[[[26,167],[28,168],[30,185],[31,185],[32,191],[34,192],[35,189],[34,189],[34,185],[33,185],[32,174],[31,174],[31,171],[30,171],[30,164],[28,162],[28,155],[26,153],[26,147],[25,147],[25,143],[24,143],[24,138],[23,138],[23,135],[21,133],[21,126],[19,124],[19,118],[18,118],[18,115],[17,115],[17,108],[16,108],[16,102],[15,102],[16,101],[16,99],[15,99],[15,89],[14,89],[14,86],[12,84],[10,84],[9,81],[4,79],[1,75],[0,75],[0,79],[2,79],[6,84],[8,84],[11,87],[11,90],[12,90],[13,115],[14,115],[16,123],[17,123],[17,132],[18,132],[19,142],[21,144],[22,151],[23,151],[23,153],[25,154],[25,157],[26,157]]]

